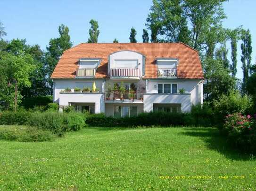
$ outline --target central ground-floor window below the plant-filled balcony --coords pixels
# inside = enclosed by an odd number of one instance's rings
[[[114,117],[137,116],[137,106],[114,106]]]

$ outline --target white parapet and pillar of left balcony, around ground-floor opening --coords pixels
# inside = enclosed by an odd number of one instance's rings
[[[95,113],[105,112],[103,93],[60,93],[59,105],[68,106],[69,103],[95,103]]]

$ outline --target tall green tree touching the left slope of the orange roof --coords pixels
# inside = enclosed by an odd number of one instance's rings
[[[49,42],[49,46],[46,47],[46,75],[47,75],[47,81],[51,87],[51,93],[52,93],[52,80],[50,79],[50,76],[58,63],[58,60],[62,53],[71,48],[73,45],[72,42],[70,42],[70,36],[69,36],[69,30],[68,27],[61,24],[58,27],[59,37],[58,38],[51,38]]]

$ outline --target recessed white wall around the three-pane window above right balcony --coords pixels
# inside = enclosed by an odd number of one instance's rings
[[[148,80],[147,93],[158,93],[158,83],[178,84],[178,92],[184,88],[185,93],[191,94],[191,103],[193,105],[197,103],[203,103],[203,86],[200,84],[201,80]]]

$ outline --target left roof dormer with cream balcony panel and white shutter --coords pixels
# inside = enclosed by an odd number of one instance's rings
[[[80,58],[76,77],[94,77],[100,63],[99,58]]]

